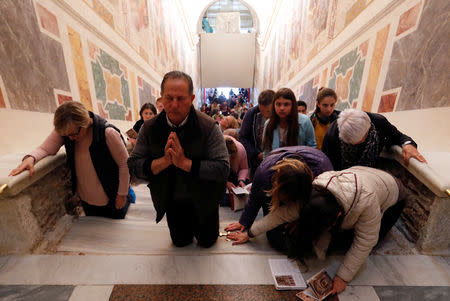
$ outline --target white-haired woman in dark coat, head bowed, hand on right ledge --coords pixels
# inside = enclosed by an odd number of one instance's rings
[[[405,164],[411,157],[426,162],[414,140],[401,133],[386,117],[356,109],[343,111],[328,128],[322,151],[335,170],[355,165],[374,167],[383,147],[399,145]]]

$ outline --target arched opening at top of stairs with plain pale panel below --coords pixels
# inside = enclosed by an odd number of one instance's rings
[[[202,88],[253,88],[255,12],[244,1],[212,1],[198,21]]]

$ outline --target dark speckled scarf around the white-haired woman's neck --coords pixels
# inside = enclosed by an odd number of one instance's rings
[[[378,133],[372,123],[363,143],[352,145],[341,141],[342,169],[355,165],[375,166],[380,153],[379,150]]]

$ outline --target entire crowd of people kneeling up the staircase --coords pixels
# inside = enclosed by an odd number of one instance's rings
[[[342,292],[405,204],[402,183],[377,169],[382,149],[398,145],[406,164],[426,163],[417,144],[382,115],[335,110],[338,95],[330,88],[318,91],[309,116],[288,88],[262,91],[248,110],[245,91],[212,95],[196,110],[193,91],[189,75],[164,76],[156,108],[142,106],[130,155],[114,125],[80,102],[64,103],[55,129],[10,175],[31,176],[37,161],[64,145],[86,215],[124,218],[133,201],[130,178],[143,179],[156,222],[166,216],[173,244],[195,238],[205,248],[218,238],[226,190],[252,183],[227,237],[238,245],[266,233],[275,249],[299,260],[344,245],[333,279],[334,292]],[[261,208],[264,217],[256,220]]]

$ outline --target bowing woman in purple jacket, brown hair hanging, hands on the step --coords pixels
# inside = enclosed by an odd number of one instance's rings
[[[332,170],[330,160],[321,151],[309,146],[282,147],[272,151],[255,172],[250,198],[239,222],[226,231],[234,244],[265,233],[271,246],[287,251],[288,223],[298,219],[299,208],[309,200],[312,181],[317,175]],[[264,217],[255,222],[259,209]],[[247,230],[247,231],[244,231]]]

